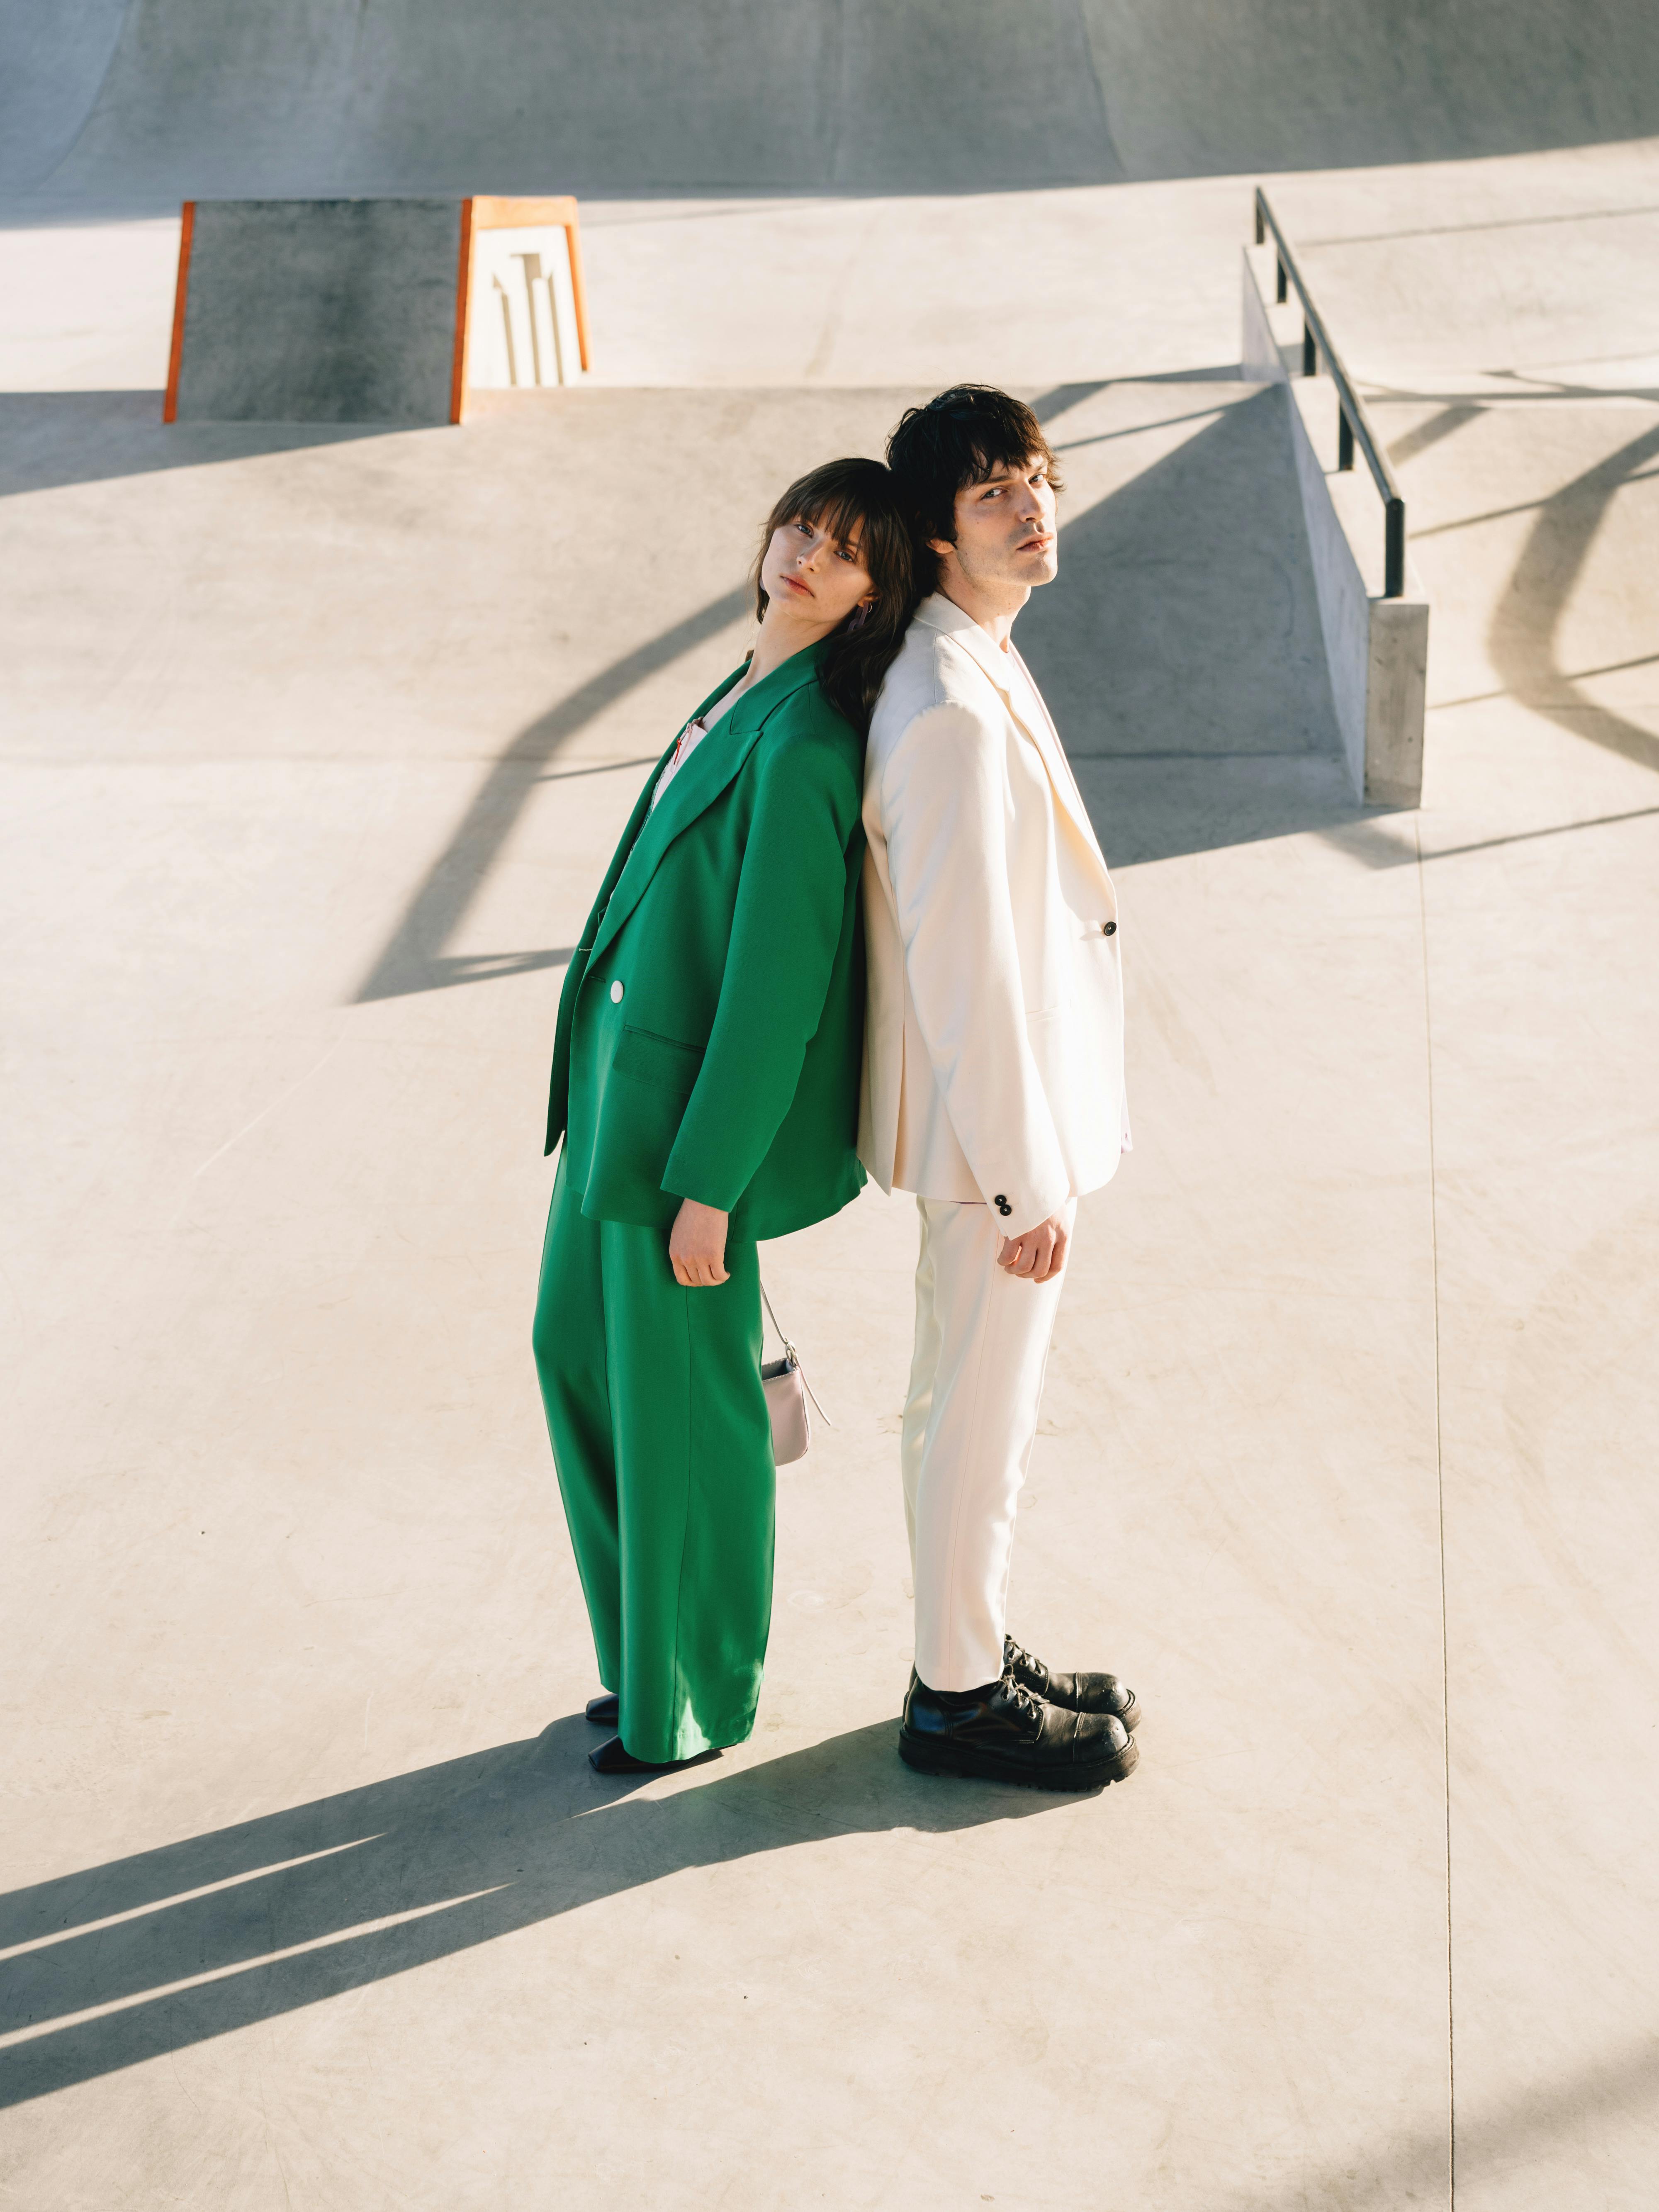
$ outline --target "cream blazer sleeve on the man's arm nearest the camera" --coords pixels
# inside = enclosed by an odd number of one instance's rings
[[[956,1141],[1002,1228],[1060,1212],[1071,1177],[1031,1051],[1013,927],[1002,730],[927,708],[880,768],[905,980]]]

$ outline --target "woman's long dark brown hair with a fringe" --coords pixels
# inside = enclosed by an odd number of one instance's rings
[[[894,666],[909,617],[916,613],[916,553],[905,502],[891,471],[878,460],[825,460],[821,469],[807,469],[765,518],[754,562],[759,617],[765,617],[768,606],[761,564],[772,531],[785,522],[812,522],[843,544],[856,540],[858,562],[876,588],[876,604],[854,608],[830,633],[818,659],[818,686],[825,699],[865,737],[880,679]]]

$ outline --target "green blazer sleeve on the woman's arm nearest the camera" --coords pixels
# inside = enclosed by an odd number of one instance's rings
[[[827,712],[827,710],[825,710]],[[849,732],[761,739],[719,1006],[661,1188],[730,1212],[783,1126],[847,920]]]

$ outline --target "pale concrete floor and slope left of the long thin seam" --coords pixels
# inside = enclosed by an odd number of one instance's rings
[[[785,1478],[754,1743],[633,1794],[582,1761],[524,1354],[560,949],[641,757],[734,659],[768,487],[907,396],[307,442],[133,414],[95,465],[35,416],[7,1933],[55,1940],[9,1962],[24,2197],[106,2201],[139,2137],[204,2205],[1252,2205],[1444,2166],[1418,891],[1334,757],[1281,392],[1051,407],[1075,584],[1033,655],[1141,856],[1141,1135],[1086,1210],[1015,1617],[1141,1674],[1141,1774],[1051,1805],[894,1756],[914,1212],[878,1197],[768,1261],[841,1427]],[[650,518],[701,456],[677,560]],[[617,518],[637,568],[593,557]],[[1124,624],[1135,560],[1166,595]],[[1183,571],[1230,619],[1188,712]],[[1091,717],[1102,622],[1130,688]]]

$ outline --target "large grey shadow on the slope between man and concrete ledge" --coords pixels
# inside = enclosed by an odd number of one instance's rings
[[[1091,469],[1133,467],[1108,449],[1135,429],[1091,434],[1073,392],[1062,460],[1086,498]],[[1113,865],[1376,812],[1340,759],[1287,396],[1201,392],[1201,427],[1062,524],[1060,580],[1020,617]]]

